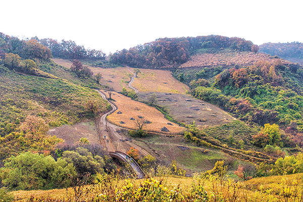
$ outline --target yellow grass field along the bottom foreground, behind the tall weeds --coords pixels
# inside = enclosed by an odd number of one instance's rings
[[[294,199],[294,197],[289,197],[289,200],[287,197],[283,197],[281,194],[281,190],[286,191],[289,193],[289,196],[292,194],[297,194],[297,196],[300,196],[300,192],[294,193],[291,191],[294,191],[294,186],[296,183],[292,182],[298,182],[298,187],[301,186],[301,175],[286,175],[286,176],[273,176],[273,177],[262,177],[262,178],[254,178],[252,180],[244,181],[244,182],[227,182],[227,181],[220,181],[216,180],[215,178],[210,179],[202,179],[200,181],[200,185],[203,185],[205,190],[208,193],[208,196],[218,195],[223,198],[226,198],[226,201],[299,201],[299,200],[290,200]],[[273,179],[271,179],[273,178]],[[286,187],[281,185],[281,182],[284,179],[293,179],[292,181],[289,181]],[[188,194],[190,189],[192,188],[192,182],[195,182],[197,185],[197,180],[191,177],[176,177],[176,176],[167,176],[163,178],[154,177],[156,180],[163,180],[162,184],[163,186],[167,187],[168,190],[173,190],[176,185],[179,185],[181,193],[182,194]],[[266,180],[265,182],[263,180]],[[295,179],[298,179],[296,181]],[[134,188],[137,188],[145,179],[129,179],[133,183]],[[256,187],[253,181],[258,182],[260,184],[260,187]],[[223,183],[222,183],[223,182]],[[252,184],[251,184],[252,182]],[[283,182],[285,183],[285,181]],[[265,186],[263,186],[263,184]],[[113,182],[113,185],[116,186],[118,189],[121,189],[122,186],[127,185],[126,180],[119,180]],[[269,186],[268,186],[269,185]],[[91,186],[91,185],[88,185]],[[86,186],[86,188],[88,188]],[[289,186],[292,187],[292,189],[289,189]],[[300,189],[298,189],[300,190]],[[30,191],[13,191],[11,192],[15,195],[15,201],[27,201],[28,198],[41,198],[44,199],[46,197],[52,198],[52,199],[65,199],[65,200],[73,200],[74,199],[74,192],[72,188],[67,189],[53,189],[53,190],[30,190]],[[90,198],[94,198],[97,194],[100,194],[101,192],[97,187],[93,188],[92,191],[90,191],[88,194],[83,194],[82,199],[89,200]],[[231,197],[232,196],[232,197]],[[216,201],[214,200],[214,196],[211,197],[210,201]],[[219,197],[220,198],[220,197]]]

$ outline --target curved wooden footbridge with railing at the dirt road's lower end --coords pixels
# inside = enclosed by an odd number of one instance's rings
[[[135,160],[133,160],[133,158],[131,158],[126,153],[116,151],[116,152],[109,152],[109,154],[111,157],[119,159],[120,161],[123,161],[126,164],[129,164],[131,166],[131,168],[133,169],[133,171],[137,174],[138,178],[145,177],[145,174],[144,174],[143,170],[141,169],[141,167],[137,164],[137,162],[135,162]]]

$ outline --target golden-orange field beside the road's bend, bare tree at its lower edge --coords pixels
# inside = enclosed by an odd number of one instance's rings
[[[168,133],[178,133],[185,129],[164,118],[164,115],[154,107],[131,100],[129,97],[118,93],[114,93],[112,98],[116,100],[114,103],[118,106],[118,110],[110,114],[108,120],[116,125],[137,129],[135,121],[130,120],[130,117],[137,119],[138,116],[142,116],[151,122],[143,127],[144,130],[162,132],[161,128],[165,126],[170,130]],[[118,111],[121,111],[122,114],[117,114]],[[125,124],[121,124],[120,121],[125,122]]]

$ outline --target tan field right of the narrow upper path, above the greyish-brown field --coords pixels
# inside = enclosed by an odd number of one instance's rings
[[[133,70],[133,68],[132,68]],[[132,86],[139,92],[185,93],[188,86],[182,84],[171,75],[170,71],[140,69]]]

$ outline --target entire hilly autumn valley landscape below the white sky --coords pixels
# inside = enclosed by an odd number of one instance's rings
[[[72,41],[0,37],[0,200],[302,196],[299,64],[218,35],[110,56]]]

